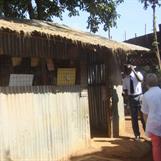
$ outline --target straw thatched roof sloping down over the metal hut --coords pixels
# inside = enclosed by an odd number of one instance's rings
[[[116,42],[107,38],[97,36],[91,33],[71,29],[65,25],[51,23],[39,20],[10,20],[0,19],[0,29],[8,29],[14,32],[23,32],[31,35],[33,32],[45,34],[46,36],[59,36],[71,40],[73,43],[82,43],[83,45],[98,45],[108,49],[122,49],[125,51],[148,51],[149,49],[132,45],[128,43]]]

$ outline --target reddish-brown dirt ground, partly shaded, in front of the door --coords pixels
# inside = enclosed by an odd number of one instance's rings
[[[76,153],[70,161],[153,161],[151,142],[143,130],[141,136],[140,141],[133,139],[131,120],[126,119],[125,135],[120,138],[93,138],[91,147]]]

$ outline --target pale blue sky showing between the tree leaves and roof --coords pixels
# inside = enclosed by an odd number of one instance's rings
[[[135,37],[135,35],[144,35],[145,31],[147,34],[152,32],[153,23],[151,7],[144,10],[143,4],[141,4],[139,0],[124,0],[124,3],[117,8],[117,11],[121,16],[117,20],[117,28],[111,29],[111,37],[113,40],[124,41],[125,39],[127,40]],[[89,32],[89,30],[86,29],[87,17],[88,15],[85,12],[81,12],[80,16],[72,18],[69,18],[67,13],[65,13],[63,21],[59,21],[58,19],[54,19],[54,21],[75,29]],[[158,24],[161,24],[161,7],[156,8],[156,21],[157,30],[159,30]],[[108,33],[104,32],[101,28],[96,34],[108,37]]]

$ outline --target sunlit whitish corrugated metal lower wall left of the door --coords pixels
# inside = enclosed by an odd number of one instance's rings
[[[0,88],[0,160],[59,161],[87,147],[87,97],[73,87]]]

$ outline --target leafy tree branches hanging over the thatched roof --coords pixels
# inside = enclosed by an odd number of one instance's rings
[[[124,0],[0,0],[1,15],[9,18],[30,18],[53,21],[62,20],[62,14],[79,15],[79,11],[89,13],[87,28],[97,32],[102,24],[104,30],[116,26],[119,17],[116,8]]]

